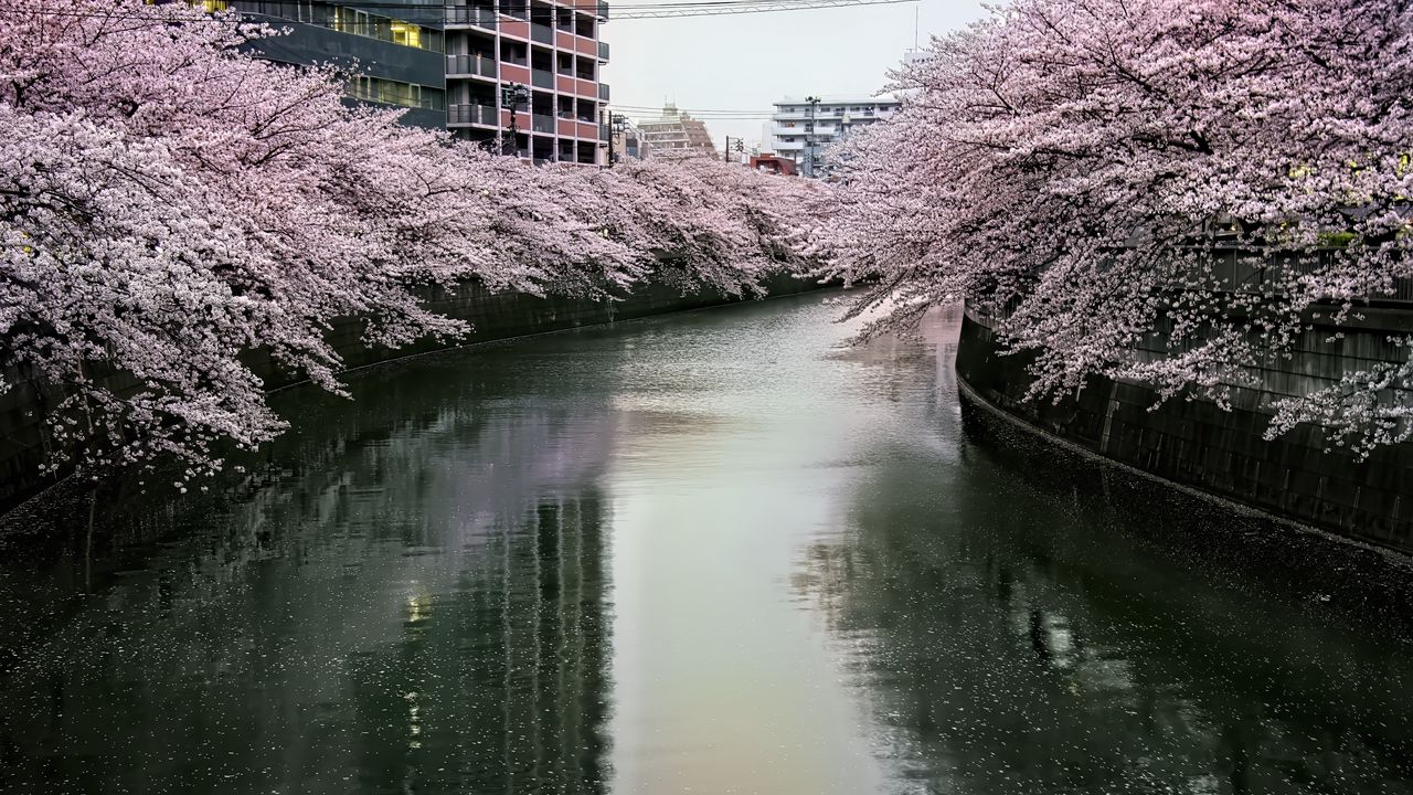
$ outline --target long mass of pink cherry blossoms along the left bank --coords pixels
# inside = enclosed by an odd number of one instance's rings
[[[764,177],[490,157],[346,108],[346,74],[243,50],[267,35],[140,0],[0,13],[0,386],[59,389],[54,468],[215,472],[219,441],[283,427],[246,354],[338,392],[335,318],[391,347],[468,331],[420,306],[422,284],[609,298],[678,249],[674,273],[740,293],[788,259],[798,222],[757,208],[784,198]]]

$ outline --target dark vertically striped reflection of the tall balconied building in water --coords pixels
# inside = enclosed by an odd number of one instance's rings
[[[605,791],[602,530],[598,498],[545,501],[499,528],[454,591],[408,597],[403,639],[346,669],[367,785]]]

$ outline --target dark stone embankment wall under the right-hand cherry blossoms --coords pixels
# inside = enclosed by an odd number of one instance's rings
[[[1413,313],[1366,313],[1366,328],[1314,328],[1294,358],[1260,372],[1263,389],[1238,390],[1232,410],[1207,400],[1169,400],[1152,389],[1094,379],[1060,403],[1023,400],[1030,376],[1023,355],[1000,355],[988,321],[968,313],[957,348],[958,379],[975,398],[1091,453],[1173,482],[1294,519],[1345,538],[1413,553],[1413,444],[1379,448],[1356,461],[1342,448],[1325,453],[1324,433],[1300,426],[1262,439],[1269,405],[1323,386],[1369,361],[1407,355],[1390,332],[1406,332]]]

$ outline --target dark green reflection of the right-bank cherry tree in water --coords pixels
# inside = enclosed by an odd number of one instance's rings
[[[1221,511],[968,437],[966,467],[893,455],[796,577],[900,789],[1413,792],[1409,644],[1385,615],[1301,610],[1308,591],[1210,549]]]

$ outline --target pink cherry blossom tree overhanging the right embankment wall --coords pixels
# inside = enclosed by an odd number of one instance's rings
[[[910,325],[965,298],[1034,356],[1226,405],[1316,313],[1413,276],[1413,16],[1397,0],[1016,0],[896,75],[841,154],[828,270]],[[1270,434],[1410,433],[1407,364],[1279,402]]]

